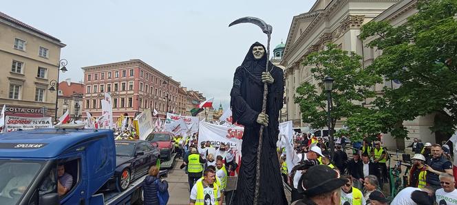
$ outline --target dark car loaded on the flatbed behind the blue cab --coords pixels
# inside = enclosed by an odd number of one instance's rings
[[[130,182],[145,176],[160,158],[157,147],[148,141],[116,141],[116,170],[104,190],[125,191]]]

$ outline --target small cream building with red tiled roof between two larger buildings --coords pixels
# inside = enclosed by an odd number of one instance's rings
[[[81,120],[83,111],[84,84],[67,79],[59,83],[59,99],[57,116],[62,116],[68,110],[70,119]]]

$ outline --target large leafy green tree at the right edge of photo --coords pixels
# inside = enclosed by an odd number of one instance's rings
[[[361,28],[361,38],[374,36],[368,46],[382,49],[383,54],[367,68],[400,82],[399,88],[383,88],[370,112],[357,119],[379,117],[376,127],[392,132],[394,137],[406,137],[401,122],[418,116],[441,112],[448,121],[438,122],[432,130],[453,133],[457,123],[457,1],[418,0],[418,13],[403,25],[370,22]],[[370,116],[367,116],[370,115]],[[353,127],[354,128],[354,127]],[[363,128],[363,130],[366,130]]]

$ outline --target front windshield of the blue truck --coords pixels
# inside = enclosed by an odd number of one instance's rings
[[[0,204],[17,204],[44,162],[0,160]]]

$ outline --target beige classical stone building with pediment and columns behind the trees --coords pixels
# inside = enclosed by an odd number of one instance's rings
[[[293,102],[295,89],[301,82],[313,82],[310,68],[301,65],[306,55],[312,51],[323,49],[326,43],[334,43],[346,51],[354,51],[363,58],[363,67],[369,66],[373,60],[382,55],[376,48],[366,45],[374,39],[364,41],[359,39],[361,25],[369,21],[387,21],[392,25],[401,25],[409,16],[417,12],[416,0],[392,1],[320,1],[318,0],[310,12],[294,16],[288,34],[286,50],[281,64],[286,67],[286,103],[288,104],[288,118],[293,120],[295,127],[307,127],[302,123],[299,107]],[[314,82],[317,83],[317,82]],[[398,88],[400,84],[385,80],[383,84],[374,86],[374,91],[384,86]],[[368,102],[369,103],[369,102]],[[383,144],[392,149],[404,149],[413,138],[419,138],[424,143],[441,143],[449,138],[439,132],[433,133],[429,127],[436,119],[443,117],[441,113],[432,113],[417,117],[413,121],[403,121],[409,131],[410,139],[394,139],[390,134],[383,134]],[[343,122],[337,122],[341,127]]]

